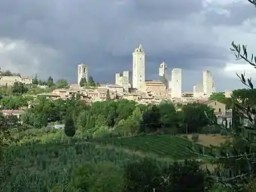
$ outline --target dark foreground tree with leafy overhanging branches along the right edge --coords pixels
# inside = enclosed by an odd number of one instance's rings
[[[256,7],[256,0],[248,0],[248,2]],[[232,42],[231,45],[230,50],[236,59],[242,59],[256,68],[256,56],[248,55],[245,44]],[[245,74],[236,75],[248,89],[233,92],[233,122],[229,130],[232,141],[223,145],[220,152],[212,154],[218,163],[218,169],[213,173],[213,178],[216,183],[221,183],[227,190],[246,191],[245,186],[254,184],[256,174],[256,140],[254,139],[256,99],[254,99],[255,90],[251,78],[246,79]],[[247,123],[243,123],[244,120],[247,120]],[[216,122],[213,123],[217,125]],[[225,129],[225,127],[221,128]],[[254,184],[253,188],[255,187]]]

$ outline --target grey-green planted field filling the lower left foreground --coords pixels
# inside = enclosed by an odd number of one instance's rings
[[[83,163],[111,162],[118,171],[137,159],[133,154],[85,142],[13,146],[2,161],[0,191],[52,191],[54,186],[72,181],[74,170]]]

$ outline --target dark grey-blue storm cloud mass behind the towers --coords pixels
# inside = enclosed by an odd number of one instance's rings
[[[132,69],[132,52],[142,43],[151,78],[163,60],[183,69],[223,64],[225,50],[190,17],[202,10],[199,0],[2,0],[0,38],[50,47],[58,54],[38,57],[41,73],[73,81],[78,62],[96,81],[113,81],[114,72]]]

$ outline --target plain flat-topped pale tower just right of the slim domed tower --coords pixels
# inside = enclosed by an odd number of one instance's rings
[[[172,69],[172,98],[181,98],[182,70]]]

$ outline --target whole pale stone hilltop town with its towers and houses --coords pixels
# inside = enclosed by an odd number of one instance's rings
[[[182,92],[182,69],[172,69],[171,79],[166,74],[167,64],[160,63],[159,78],[157,80],[145,79],[145,50],[142,44],[133,52],[133,71],[117,72],[115,74],[115,84],[96,84],[93,78],[89,76],[88,66],[78,65],[77,84],[68,84],[65,88],[52,90],[50,93],[40,93],[38,96],[46,96],[50,99],[66,99],[69,96],[81,96],[87,103],[104,101],[109,94],[111,99],[129,99],[142,104],[159,104],[163,100],[172,102],[188,103],[200,102],[209,99],[212,93],[215,93],[215,82],[212,72],[203,71],[203,81],[194,86],[193,92]],[[0,77],[0,86],[14,85],[20,82],[26,85],[35,84],[33,77],[22,77],[20,75],[2,74]],[[93,84],[88,84],[93,81]],[[36,80],[38,87],[45,87],[46,82]],[[224,92],[225,97],[230,97],[231,91]]]

